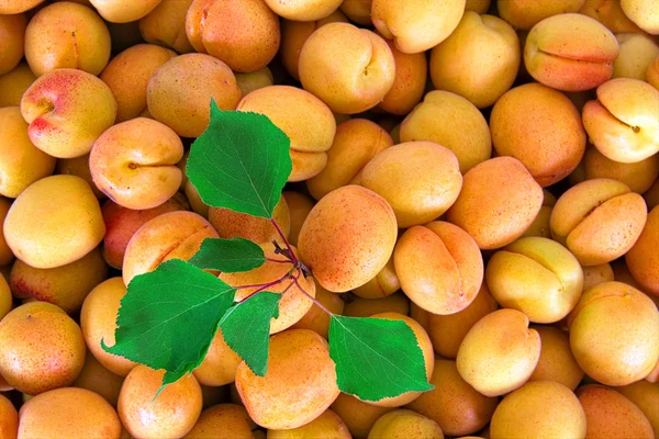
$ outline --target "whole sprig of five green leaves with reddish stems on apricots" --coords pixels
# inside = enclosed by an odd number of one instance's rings
[[[290,140],[261,114],[221,111],[211,102],[211,121],[192,144],[187,175],[204,203],[271,222],[279,241],[277,259],[242,238],[208,238],[189,260],[168,260],[135,277],[127,285],[116,318],[115,345],[105,351],[166,371],[163,390],[201,364],[217,330],[259,376],[268,370],[270,322],[292,285],[330,314],[330,356],[337,385],[362,401],[380,401],[406,392],[432,390],[424,357],[410,326],[402,320],[332,314],[300,280],[312,277],[272,219],[292,170]],[[280,279],[264,284],[230,285],[204,270],[237,273],[267,260],[290,264]],[[268,291],[283,283],[281,293]],[[254,290],[236,301],[241,289]],[[245,328],[250,331],[246,333]]]

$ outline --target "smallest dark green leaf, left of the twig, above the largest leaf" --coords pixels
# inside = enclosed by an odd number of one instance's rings
[[[264,250],[257,244],[243,238],[206,238],[189,260],[197,268],[225,273],[249,271],[263,266],[265,261]]]

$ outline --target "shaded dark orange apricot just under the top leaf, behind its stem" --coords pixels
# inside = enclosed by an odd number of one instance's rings
[[[277,223],[284,236],[291,228],[290,212],[286,199],[282,196],[275,210],[272,219]],[[209,222],[213,225],[221,238],[241,237],[255,243],[271,243],[273,239],[281,241],[279,233],[269,219],[238,213],[231,209],[210,207]]]

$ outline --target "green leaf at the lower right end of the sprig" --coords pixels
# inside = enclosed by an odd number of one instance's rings
[[[362,401],[434,389],[416,336],[403,320],[333,315],[330,356],[338,389]]]

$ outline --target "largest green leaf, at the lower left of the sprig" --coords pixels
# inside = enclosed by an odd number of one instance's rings
[[[201,364],[234,295],[235,290],[216,277],[182,260],[168,260],[131,281],[116,317],[116,342],[109,347],[101,340],[101,346],[165,369],[165,386]]]

